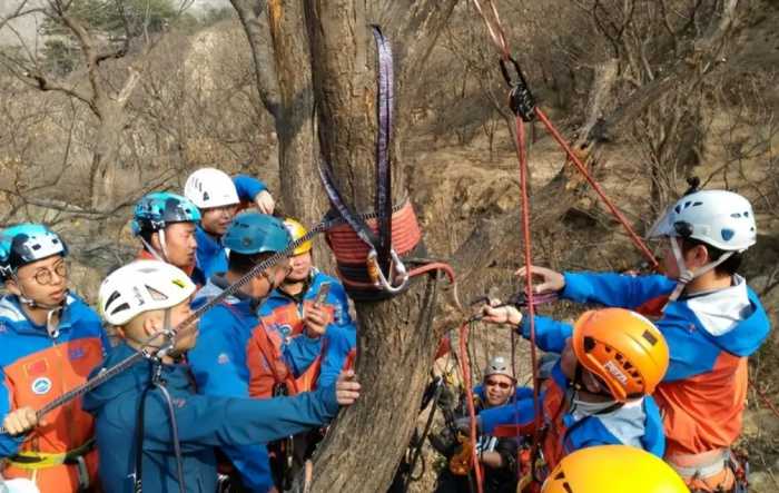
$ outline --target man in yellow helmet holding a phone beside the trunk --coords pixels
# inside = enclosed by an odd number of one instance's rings
[[[285,219],[284,225],[293,240],[307,233],[297,220]],[[312,248],[312,241],[305,241],[293,252],[284,282],[259,307],[262,323],[247,346],[253,397],[294,395],[329,386],[355,357],[356,329],[348,314],[346,293],[337,279],[313,267]],[[290,351],[295,346],[314,349],[315,361],[307,358],[310,353],[292,357],[300,354]],[[322,437],[318,431],[313,431],[289,438],[292,443],[286,445],[269,446],[279,489],[310,456]],[[292,457],[290,448],[294,448]]]

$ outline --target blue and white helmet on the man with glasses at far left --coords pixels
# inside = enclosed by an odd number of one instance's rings
[[[0,231],[0,278],[16,275],[19,267],[51,257],[68,255],[60,236],[40,224],[23,223]]]

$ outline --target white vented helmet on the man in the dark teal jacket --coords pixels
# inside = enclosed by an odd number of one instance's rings
[[[136,260],[112,272],[100,285],[98,308],[111,325],[125,325],[144,312],[172,308],[195,293],[178,267],[159,260]]]

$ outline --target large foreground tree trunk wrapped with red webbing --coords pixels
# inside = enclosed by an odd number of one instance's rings
[[[372,210],[375,194],[376,49],[369,24],[381,23],[393,46],[396,114],[404,115],[414,79],[403,63],[424,62],[455,1],[406,3],[305,2],[319,145],[338,187],[357,210]],[[402,136],[398,128],[392,152],[395,201],[406,195],[400,166]],[[407,293],[392,300],[357,304],[363,396],[343,412],[317,451],[312,491],[362,493],[388,487],[414,428],[442,335],[431,324],[432,293],[431,282],[416,279]]]

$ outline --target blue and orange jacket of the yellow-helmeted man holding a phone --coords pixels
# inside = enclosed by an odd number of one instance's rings
[[[348,354],[357,345],[357,332],[349,316],[348,299],[341,282],[313,268],[308,289],[299,303],[282,290],[275,289],[259,307],[259,317],[266,329],[274,333],[274,338],[282,341],[283,347],[299,338],[307,338],[303,333],[303,312],[307,304],[314,302],[323,283],[331,284],[329,293],[322,306],[331,313],[332,322],[327,325],[324,338],[312,341],[317,341],[319,344],[317,352],[322,352],[318,385],[327,386],[338,378]],[[287,362],[287,366],[295,376],[305,372],[305,368],[300,368],[295,362]]]

